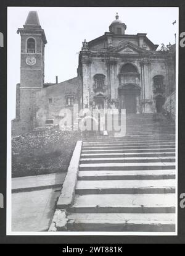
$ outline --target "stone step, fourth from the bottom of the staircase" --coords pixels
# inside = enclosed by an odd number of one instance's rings
[[[78,181],[175,179],[175,170],[80,171]]]

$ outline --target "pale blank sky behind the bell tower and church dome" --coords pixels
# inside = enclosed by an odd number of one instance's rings
[[[147,33],[156,45],[174,44],[178,29],[177,7],[8,7],[7,103],[11,119],[15,118],[16,84],[20,82],[20,35],[17,28],[23,27],[29,11],[38,11],[46,34],[44,82],[52,83],[56,75],[59,82],[76,77],[82,41],[109,32],[109,25],[117,12],[127,25],[126,34]]]

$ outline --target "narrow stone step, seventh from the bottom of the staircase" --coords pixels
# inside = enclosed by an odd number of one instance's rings
[[[97,154],[81,154],[81,159],[84,158],[118,158],[118,157],[123,157],[123,158],[132,158],[132,157],[160,157],[160,156],[175,156],[175,151],[174,153],[168,153],[168,152],[148,152],[148,153],[97,153]]]

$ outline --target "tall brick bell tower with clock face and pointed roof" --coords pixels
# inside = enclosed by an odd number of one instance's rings
[[[19,118],[21,134],[35,127],[36,94],[44,84],[44,48],[47,41],[36,11],[29,12],[25,25],[17,33],[21,36],[21,58],[16,119]]]

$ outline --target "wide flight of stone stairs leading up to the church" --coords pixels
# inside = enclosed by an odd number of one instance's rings
[[[127,127],[83,142],[67,231],[175,232],[175,127],[150,114]]]

